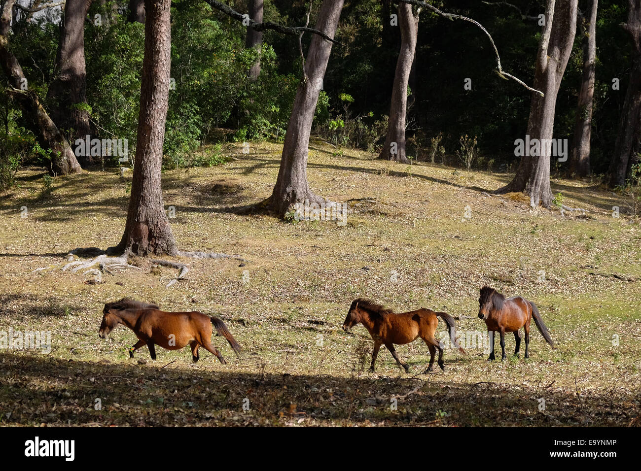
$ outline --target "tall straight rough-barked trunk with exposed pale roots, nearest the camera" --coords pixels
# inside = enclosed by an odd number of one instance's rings
[[[160,185],[171,67],[171,0],[146,0],[138,139],[124,235],[111,251],[178,254]]]

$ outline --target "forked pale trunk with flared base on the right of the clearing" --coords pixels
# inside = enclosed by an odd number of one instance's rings
[[[532,92],[528,120],[530,139],[552,139],[556,95],[576,34],[577,3],[578,0],[563,0],[558,4],[554,0],[547,1],[533,85],[545,96]],[[532,206],[541,204],[547,208],[552,204],[549,149],[545,145],[541,147],[539,156],[521,158],[512,181],[499,188],[497,193],[526,192]]]

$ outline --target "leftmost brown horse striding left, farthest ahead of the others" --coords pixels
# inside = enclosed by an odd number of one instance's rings
[[[133,358],[133,352],[144,345],[149,348],[151,359],[156,359],[155,345],[167,350],[178,350],[189,344],[192,347],[194,362],[198,361],[198,349],[203,346],[224,365],[227,362],[210,341],[212,324],[218,333],[227,339],[236,356],[240,358],[240,345],[229,333],[224,322],[197,311],[164,312],[156,304],[124,297],[120,301],[104,305],[103,323],[100,324],[98,336],[106,338],[119,324],[129,327],[140,339],[129,349],[129,358]]]

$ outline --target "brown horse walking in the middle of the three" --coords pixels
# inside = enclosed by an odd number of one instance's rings
[[[429,367],[423,372],[426,374],[433,370],[434,355],[438,349],[438,366],[445,370],[443,361],[443,345],[434,338],[437,330],[438,319],[442,317],[447,325],[447,332],[453,343],[456,344],[454,335],[454,318],[444,312],[434,312],[429,309],[421,308],[417,311],[410,311],[396,314],[391,309],[386,309],[380,304],[375,304],[369,299],[354,299],[352,305],[347,311],[347,317],[343,323],[343,330],[349,331],[359,322],[369,331],[369,335],[374,340],[374,353],[372,353],[372,366],[370,372],[374,372],[374,363],[378,356],[378,349],[385,345],[390,351],[399,367],[405,368],[405,372],[410,372],[410,367],[402,361],[394,349],[394,343],[404,345],[413,342],[417,338],[422,338],[428,345],[429,349]],[[457,345],[458,347],[458,345]],[[458,347],[465,353],[465,351]]]

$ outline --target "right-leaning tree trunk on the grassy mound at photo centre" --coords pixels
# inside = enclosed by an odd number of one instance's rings
[[[336,33],[343,0],[323,0],[320,6],[316,29],[333,38]],[[331,53],[332,43],[319,35],[313,35],[304,67],[304,78],[298,85],[292,115],[287,126],[283,155],[278,179],[267,207],[284,216],[296,202],[320,202],[307,182],[307,154],[312,121],[319,98],[320,85]]]

